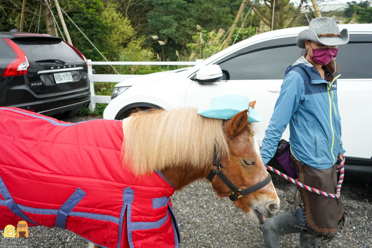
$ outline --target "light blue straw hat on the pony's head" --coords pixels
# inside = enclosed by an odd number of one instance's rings
[[[239,94],[226,94],[211,99],[208,109],[198,108],[198,114],[215,119],[231,119],[237,113],[248,109],[248,122],[260,122],[262,117],[249,107],[249,98]]]

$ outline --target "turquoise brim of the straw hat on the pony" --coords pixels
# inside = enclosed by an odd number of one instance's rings
[[[198,108],[198,114],[208,118],[229,120],[237,113],[243,110],[237,109],[201,109]],[[247,122],[260,122],[262,117],[253,108],[249,108]]]

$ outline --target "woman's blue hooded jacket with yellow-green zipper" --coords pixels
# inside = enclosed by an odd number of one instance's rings
[[[337,75],[328,83],[305,57],[288,67],[262,141],[264,164],[274,156],[289,123],[295,158],[318,169],[331,168],[343,154],[337,104]]]

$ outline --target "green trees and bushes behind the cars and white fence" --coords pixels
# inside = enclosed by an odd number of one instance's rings
[[[25,32],[46,33],[42,4],[44,0],[27,0]],[[48,0],[50,1],[50,0]],[[289,0],[288,0],[289,1]],[[51,10],[62,28],[54,1]],[[221,51],[240,0],[59,0],[61,8],[86,34],[109,61],[195,61]],[[258,3],[257,1],[257,4]],[[19,29],[22,0],[0,0],[0,30]],[[264,6],[262,5],[262,10]],[[249,6],[243,10],[230,44],[262,32],[262,22]],[[288,15],[295,11],[291,2]],[[41,17],[38,14],[41,13]],[[352,1],[343,13],[347,22],[371,23],[372,7]],[[73,45],[86,58],[104,61],[76,26],[64,15]],[[261,24],[261,26],[260,26]],[[307,25],[304,16],[294,26]],[[264,29],[263,29],[264,30]],[[61,35],[58,31],[58,35]],[[119,74],[148,74],[174,70],[180,66],[116,65]],[[113,74],[110,66],[94,66],[99,74]],[[99,95],[110,95],[115,83],[95,83]],[[104,108],[99,105],[97,109]],[[83,110],[81,113],[87,113]],[[80,114],[81,114],[80,113]]]

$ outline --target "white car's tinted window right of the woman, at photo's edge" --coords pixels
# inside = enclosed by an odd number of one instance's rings
[[[348,43],[339,46],[336,62],[340,78],[372,78],[372,43]]]

